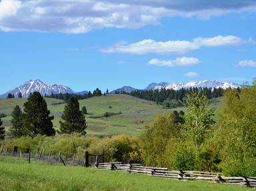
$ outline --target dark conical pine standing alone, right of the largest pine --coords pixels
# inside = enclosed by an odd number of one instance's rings
[[[64,122],[60,121],[61,127],[59,128],[59,133],[68,133],[78,132],[80,134],[86,134],[85,128],[85,116],[79,110],[79,102],[75,96],[71,96],[65,105],[65,109],[61,118]]]

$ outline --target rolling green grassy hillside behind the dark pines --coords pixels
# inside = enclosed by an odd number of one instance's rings
[[[3,118],[7,129],[11,126],[11,112],[14,106],[17,104],[23,108],[23,103],[26,100],[26,98],[0,99],[0,113],[8,115]],[[65,103],[63,100],[55,98],[45,98],[45,100],[51,114],[55,116],[53,125],[55,128],[59,128],[59,120],[61,120]],[[165,111],[155,102],[129,95],[95,96],[79,100],[79,103],[80,108],[86,106],[89,113],[86,115],[88,134],[139,134],[157,114]],[[121,114],[104,117],[105,112],[121,112]]]

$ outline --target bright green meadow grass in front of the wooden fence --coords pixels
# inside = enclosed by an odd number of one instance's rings
[[[249,190],[241,186],[43,164],[0,156],[0,190]]]

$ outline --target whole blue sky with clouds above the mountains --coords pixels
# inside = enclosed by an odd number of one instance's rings
[[[2,0],[0,93],[30,79],[74,91],[143,89],[161,81],[251,81],[256,3],[193,1],[190,9],[183,1],[81,0],[78,9],[70,8],[76,1],[69,0]],[[66,8],[60,14],[53,11],[57,7]]]

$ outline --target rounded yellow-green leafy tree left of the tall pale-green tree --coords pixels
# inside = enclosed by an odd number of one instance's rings
[[[141,136],[143,160],[149,166],[171,167],[181,124],[175,122],[173,114],[158,116]]]

